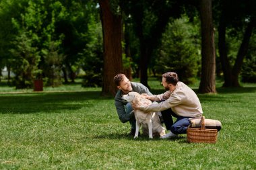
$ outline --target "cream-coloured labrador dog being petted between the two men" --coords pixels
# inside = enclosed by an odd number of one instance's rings
[[[137,105],[149,105],[152,103],[152,101],[137,92],[129,92],[127,95],[123,95],[122,99],[130,103],[137,103]],[[163,136],[165,134],[165,128],[162,126],[156,112],[146,113],[141,110],[134,110],[134,115],[136,119],[134,138],[137,138],[139,135],[140,125],[142,126],[143,134],[148,134],[150,138],[153,138],[153,136]]]

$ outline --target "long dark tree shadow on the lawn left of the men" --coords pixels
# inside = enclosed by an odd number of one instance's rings
[[[38,112],[61,112],[93,108],[94,99],[103,101],[100,91],[61,92],[61,93],[22,93],[0,95],[1,114],[32,114]]]

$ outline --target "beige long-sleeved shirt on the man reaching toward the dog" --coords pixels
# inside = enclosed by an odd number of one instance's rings
[[[166,91],[160,95],[154,95],[155,101],[162,101],[160,103],[153,103],[151,105],[140,106],[140,109],[146,112],[160,112],[171,108],[178,116],[195,118],[203,114],[201,103],[195,92],[179,81],[174,91]]]

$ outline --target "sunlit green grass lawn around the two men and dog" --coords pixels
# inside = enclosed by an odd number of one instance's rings
[[[205,118],[222,122],[216,144],[134,140],[100,88],[9,88],[0,87],[0,169],[256,169],[256,84],[198,95]]]

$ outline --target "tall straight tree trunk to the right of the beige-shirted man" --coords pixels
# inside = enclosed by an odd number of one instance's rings
[[[201,81],[199,93],[216,93],[215,85],[215,46],[212,24],[212,0],[200,1],[201,14]]]

